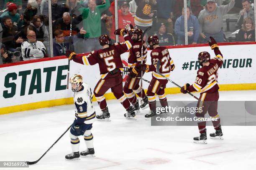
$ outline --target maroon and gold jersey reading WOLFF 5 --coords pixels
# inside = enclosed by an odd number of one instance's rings
[[[119,68],[123,71],[123,63],[120,55],[132,47],[132,40],[128,35],[125,35],[125,42],[116,42],[110,47],[90,52],[89,55],[84,55],[82,61],[84,65],[99,64],[100,77],[105,79],[109,72]]]

